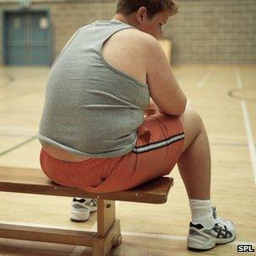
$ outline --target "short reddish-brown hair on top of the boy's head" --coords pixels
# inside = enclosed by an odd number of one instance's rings
[[[175,0],[117,0],[116,13],[129,15],[135,13],[139,8],[147,8],[147,15],[149,19],[156,13],[163,11],[170,11],[170,15],[178,13],[179,6]]]

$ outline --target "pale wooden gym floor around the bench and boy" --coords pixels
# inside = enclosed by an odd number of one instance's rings
[[[49,70],[0,67],[0,165],[40,167],[36,134]],[[238,255],[237,245],[241,243],[256,249],[256,66],[179,66],[173,70],[209,134],[212,200],[218,214],[237,225],[235,242],[200,255]],[[177,168],[171,176],[174,187],[167,204],[117,203],[123,243],[112,250],[112,256],[199,255],[186,250],[188,200]],[[96,228],[95,213],[84,223],[69,220],[70,198],[1,192],[0,202],[1,221]],[[0,238],[0,255],[90,253],[90,248]]]

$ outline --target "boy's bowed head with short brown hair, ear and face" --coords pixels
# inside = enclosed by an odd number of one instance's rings
[[[147,34],[159,39],[169,16],[178,13],[174,0],[117,0],[116,15]]]

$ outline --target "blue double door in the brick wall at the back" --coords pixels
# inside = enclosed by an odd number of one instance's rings
[[[5,13],[5,63],[50,65],[50,22],[46,12]]]

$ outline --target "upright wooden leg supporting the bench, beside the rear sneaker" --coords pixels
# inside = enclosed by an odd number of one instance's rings
[[[93,256],[107,256],[121,242],[120,221],[115,219],[115,201],[98,200],[98,232],[93,238]]]

